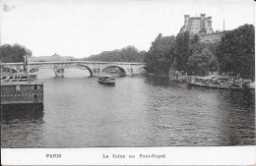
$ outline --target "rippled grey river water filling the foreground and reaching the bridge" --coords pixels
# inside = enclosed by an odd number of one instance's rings
[[[102,85],[88,76],[41,70],[43,108],[2,111],[1,147],[255,144],[254,91],[146,76]]]

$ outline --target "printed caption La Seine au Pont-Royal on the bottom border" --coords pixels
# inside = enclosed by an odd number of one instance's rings
[[[165,154],[102,154],[102,158],[165,158]]]

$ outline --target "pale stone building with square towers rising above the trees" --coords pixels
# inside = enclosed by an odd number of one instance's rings
[[[222,40],[224,31],[214,31],[212,28],[212,17],[207,17],[205,14],[201,14],[200,17],[189,17],[184,15],[184,26],[180,29],[180,32],[189,32],[189,36],[192,38],[196,34],[199,37],[200,42],[216,43]]]

